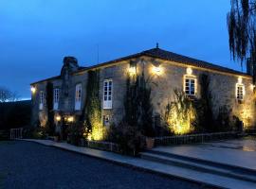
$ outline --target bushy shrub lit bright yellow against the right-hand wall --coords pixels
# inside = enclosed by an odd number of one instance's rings
[[[174,134],[186,134],[193,130],[196,110],[192,100],[184,92],[174,90],[175,101],[166,107],[165,120]]]

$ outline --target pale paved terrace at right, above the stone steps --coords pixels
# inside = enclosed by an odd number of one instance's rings
[[[237,139],[187,146],[158,146],[156,151],[256,170],[256,139]]]

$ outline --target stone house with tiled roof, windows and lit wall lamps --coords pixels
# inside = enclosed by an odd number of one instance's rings
[[[89,70],[100,72],[100,96],[102,121],[118,124],[123,117],[123,97],[126,79],[139,75],[144,70],[150,77],[154,116],[162,116],[168,102],[174,100],[174,89],[200,97],[199,77],[210,77],[210,91],[213,96],[213,113],[228,106],[233,115],[244,122],[246,128],[254,126],[255,104],[254,85],[249,74],[195,60],[162,50],[158,47],[117,60],[103,62],[90,67],[81,67],[72,57],[64,58],[60,76],[46,78],[31,83],[32,122],[46,125],[46,83],[53,85],[53,110],[55,119],[76,122],[81,115],[86,98],[86,85]]]

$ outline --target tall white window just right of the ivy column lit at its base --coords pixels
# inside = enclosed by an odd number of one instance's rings
[[[103,109],[112,109],[112,92],[113,92],[113,81],[112,81],[112,79],[104,80]]]

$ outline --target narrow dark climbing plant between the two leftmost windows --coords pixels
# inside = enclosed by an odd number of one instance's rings
[[[55,134],[54,125],[54,112],[53,112],[53,84],[47,82],[46,84],[46,106],[47,106],[47,122],[46,122],[46,132],[49,135]]]

